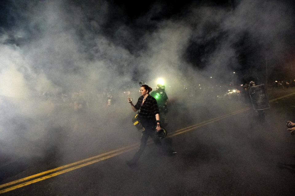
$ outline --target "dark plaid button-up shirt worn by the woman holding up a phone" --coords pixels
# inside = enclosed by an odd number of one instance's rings
[[[155,115],[159,113],[156,99],[151,95],[148,95],[144,101],[144,104],[141,105],[143,99],[144,96],[140,96],[136,105],[134,106],[136,110],[139,110],[138,116],[145,119],[154,119]]]

